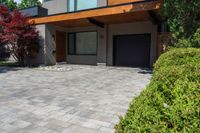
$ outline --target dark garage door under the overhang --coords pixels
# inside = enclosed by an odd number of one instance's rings
[[[114,36],[114,65],[149,67],[150,34]]]

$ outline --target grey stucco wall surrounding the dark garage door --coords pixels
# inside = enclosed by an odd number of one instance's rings
[[[150,65],[156,61],[157,26],[149,22],[111,24],[108,26],[107,65],[113,65],[113,36],[128,34],[151,34]]]

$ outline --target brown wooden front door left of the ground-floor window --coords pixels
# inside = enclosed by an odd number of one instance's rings
[[[66,32],[56,31],[56,61],[66,61]]]

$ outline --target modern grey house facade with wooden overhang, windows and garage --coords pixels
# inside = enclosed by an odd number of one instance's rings
[[[40,33],[41,50],[27,63],[152,66],[163,29],[161,4],[160,0],[44,0],[43,10],[31,19]]]

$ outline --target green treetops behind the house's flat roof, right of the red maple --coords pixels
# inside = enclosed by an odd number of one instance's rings
[[[28,8],[32,6],[41,6],[41,2],[39,0],[22,0],[21,3],[19,3],[18,8]]]

